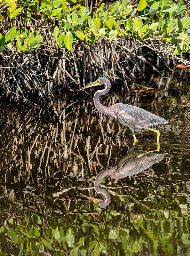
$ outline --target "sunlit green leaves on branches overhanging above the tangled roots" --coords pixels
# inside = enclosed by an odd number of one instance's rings
[[[2,5],[6,3],[5,0]],[[6,15],[11,20],[21,16],[23,23],[35,19],[36,12],[41,13],[44,22],[55,20],[57,26],[52,28],[55,44],[68,50],[72,50],[72,45],[78,40],[93,45],[103,36],[107,36],[109,41],[117,37],[130,37],[139,41],[148,38],[161,40],[175,45],[173,54],[190,50],[190,18],[184,15],[187,6],[182,5],[182,1],[176,4],[167,0],[140,0],[137,12],[133,11],[127,0],[116,1],[107,10],[102,3],[92,15],[88,7],[77,4],[75,0],[43,0],[41,4],[36,0],[23,0],[21,7],[18,7],[17,1],[10,1]],[[3,19],[1,15],[2,22]],[[187,36],[181,39],[180,36],[184,34]],[[44,36],[41,28],[37,28],[36,35],[30,33],[25,26],[21,31],[11,28],[5,35],[1,35],[0,51],[3,52],[7,47],[18,52],[34,51],[43,43]]]

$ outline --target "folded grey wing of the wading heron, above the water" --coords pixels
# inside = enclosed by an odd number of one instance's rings
[[[156,116],[142,108],[122,103],[115,104],[112,107],[114,107],[113,111],[118,118],[118,122],[122,124],[126,123],[134,127],[147,127],[168,123],[164,118]]]

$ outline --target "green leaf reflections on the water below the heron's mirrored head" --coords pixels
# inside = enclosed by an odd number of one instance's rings
[[[167,195],[167,189],[160,187],[162,195]],[[122,199],[122,200],[121,200]],[[120,201],[121,200],[121,201]],[[138,201],[138,198],[133,198]],[[117,203],[123,202],[123,196],[116,199]],[[175,254],[173,241],[189,248],[188,230],[188,209],[183,204],[181,197],[175,197],[173,203],[165,197],[153,198],[154,209],[150,210],[151,204],[144,201],[144,204],[137,204],[139,214],[133,214],[129,207],[129,213],[119,213],[110,210],[104,212],[102,220],[98,221],[99,214],[94,221],[86,212],[85,215],[70,215],[68,218],[56,218],[48,216],[49,226],[40,225],[40,216],[34,213],[25,215],[23,222],[10,219],[5,226],[0,228],[0,241],[6,247],[8,240],[19,245],[19,255],[39,255],[39,252],[60,252],[70,251],[70,255],[115,255],[115,242],[117,250],[125,255],[133,255],[142,251],[154,250],[154,255],[159,255],[158,247],[167,253]],[[170,208],[170,209],[168,209]],[[78,208],[81,211],[81,207]],[[78,211],[77,210],[77,211]],[[98,210],[98,209],[97,209]],[[76,209],[75,209],[76,211]],[[83,210],[82,210],[83,212]],[[129,218],[130,216],[130,218]],[[43,216],[41,216],[43,218]],[[35,221],[34,221],[35,220]],[[114,220],[114,221],[113,221]],[[175,224],[178,223],[176,231]],[[173,233],[175,230],[175,234]],[[8,239],[7,239],[8,238]]]

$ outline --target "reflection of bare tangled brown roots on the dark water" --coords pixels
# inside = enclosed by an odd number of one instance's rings
[[[58,99],[54,104],[51,102],[48,109],[36,107],[24,116],[19,116],[18,113],[14,116],[12,113],[8,124],[4,123],[1,127],[0,200],[4,201],[2,205],[5,207],[9,208],[9,205],[12,205],[12,212],[16,212],[17,218],[22,212],[21,205],[24,207],[23,211],[42,214],[44,222],[46,216],[64,215],[66,212],[68,214],[75,208],[78,209],[81,204],[84,204],[83,207],[88,211],[87,202],[78,197],[74,188],[87,190],[89,196],[93,196],[94,191],[91,188],[95,174],[100,168],[113,164],[128,151],[132,137],[126,134],[125,127],[121,129],[120,124],[99,114],[89,99],[82,99],[79,102],[70,99],[68,95],[64,97],[64,101]],[[139,99],[128,96],[126,100],[141,107]],[[65,102],[68,100],[70,104],[67,105]],[[122,101],[123,98],[118,95],[108,95],[102,99],[105,105]],[[154,113],[157,114],[163,108],[162,102],[159,106],[153,101]],[[3,117],[1,119],[3,123]],[[11,165],[12,161],[15,164],[14,168]],[[163,182],[163,176],[156,175],[154,167],[149,171],[152,177],[142,173],[140,176],[128,177],[114,184],[109,180],[107,185],[103,186],[113,196],[129,200],[123,204],[125,211],[132,205],[143,204],[143,207],[149,207],[145,202],[153,202],[153,195],[149,195],[148,187],[156,190],[162,184],[162,188],[165,186],[172,191],[173,196],[175,195],[176,180],[179,183],[179,180],[183,179],[169,177]],[[5,184],[9,190],[5,189]],[[141,193],[143,195],[140,195]],[[159,193],[160,190],[157,196]],[[10,196],[19,204],[11,202]],[[4,216],[1,216],[3,221]]]

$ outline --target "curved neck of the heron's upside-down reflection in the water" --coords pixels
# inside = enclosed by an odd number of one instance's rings
[[[100,187],[100,182],[103,177],[107,176],[107,170],[104,170],[103,172],[99,172],[94,180],[94,189],[98,194],[103,194],[106,197],[106,202],[111,202],[111,196],[109,194],[109,191],[106,188]]]

